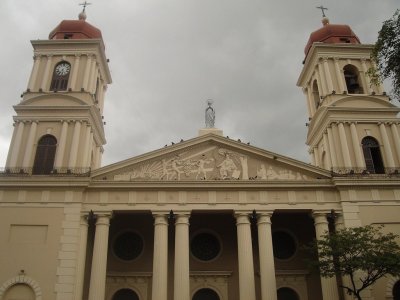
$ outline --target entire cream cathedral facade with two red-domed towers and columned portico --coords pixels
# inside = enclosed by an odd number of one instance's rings
[[[0,300],[349,300],[303,246],[400,234],[399,108],[349,26],[325,18],[305,48],[312,164],[224,137],[209,103],[198,137],[101,167],[101,31],[81,13],[32,46],[0,172]],[[364,296],[399,289],[386,277]]]

